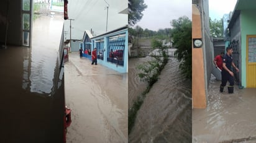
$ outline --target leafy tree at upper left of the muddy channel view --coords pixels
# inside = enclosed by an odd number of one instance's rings
[[[129,25],[135,25],[137,22],[139,22],[139,20],[142,19],[143,17],[142,11],[144,11],[146,8],[147,8],[147,5],[144,4],[144,0],[129,0],[128,2]]]

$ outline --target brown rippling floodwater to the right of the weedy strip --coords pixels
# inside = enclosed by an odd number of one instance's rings
[[[129,61],[129,65],[131,62],[137,61]],[[171,58],[147,93],[129,142],[191,142],[191,82],[180,75],[178,65]],[[129,85],[132,80],[136,79],[129,76]],[[131,90],[137,89],[129,86]]]

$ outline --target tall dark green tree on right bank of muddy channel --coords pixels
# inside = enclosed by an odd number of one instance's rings
[[[188,17],[183,16],[178,20],[171,21],[172,32],[171,37],[173,45],[177,50],[175,55],[178,61],[181,62],[181,73],[188,79],[192,79],[192,23]]]

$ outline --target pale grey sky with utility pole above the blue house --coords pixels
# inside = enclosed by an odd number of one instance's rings
[[[128,7],[127,0],[106,0],[109,3],[107,31],[111,31],[128,24],[127,14],[118,14]],[[100,35],[106,32],[107,6],[104,0],[75,0],[68,1],[68,18],[71,20],[71,38],[80,40],[85,30],[93,28],[94,33]],[[70,20],[64,22],[66,39],[70,38]]]

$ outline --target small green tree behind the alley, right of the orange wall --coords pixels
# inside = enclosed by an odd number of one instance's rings
[[[215,38],[223,37],[223,19],[211,20],[211,17],[209,17],[209,23],[211,35]]]

